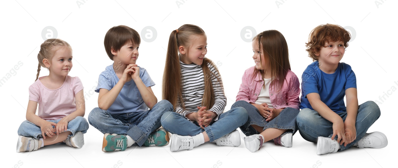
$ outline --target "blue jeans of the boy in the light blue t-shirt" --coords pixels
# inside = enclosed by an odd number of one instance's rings
[[[120,115],[96,107],[88,115],[88,122],[103,134],[129,135],[141,147],[150,133],[160,127],[163,113],[170,110],[173,105],[167,100],[161,100],[147,111]]]

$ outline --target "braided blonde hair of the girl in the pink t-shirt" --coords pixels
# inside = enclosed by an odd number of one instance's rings
[[[48,59],[50,61],[51,58],[53,58],[55,51],[57,51],[59,47],[69,47],[70,49],[72,49],[69,43],[66,43],[66,41],[63,41],[61,39],[47,39],[40,45],[40,51],[39,54],[37,54],[37,61],[39,61],[39,66],[37,67],[36,80],[39,78],[39,73],[41,69],[40,66],[47,68],[43,63],[43,59]]]

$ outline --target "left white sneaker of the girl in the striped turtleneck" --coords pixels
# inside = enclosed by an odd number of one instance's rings
[[[172,135],[170,139],[170,151],[177,152],[181,150],[192,150],[195,147],[195,141],[191,136]]]

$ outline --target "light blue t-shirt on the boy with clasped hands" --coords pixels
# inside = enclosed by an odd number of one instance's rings
[[[139,66],[138,66],[139,67]],[[140,68],[140,78],[146,87],[154,86],[155,82],[152,81],[148,72],[144,68]],[[107,66],[103,72],[101,72],[98,78],[98,85],[96,92],[100,92],[100,89],[111,90],[119,82],[115,70],[113,70],[113,64]],[[148,107],[142,100],[142,96],[135,84],[134,80],[126,82],[116,97],[115,102],[107,109],[107,111],[114,115],[142,112],[148,110]]]

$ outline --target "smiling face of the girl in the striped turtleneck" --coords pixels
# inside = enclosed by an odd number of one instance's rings
[[[181,61],[184,64],[201,65],[207,54],[207,37],[205,35],[192,35],[190,39],[192,42],[188,47],[179,47],[179,52],[183,55]]]

